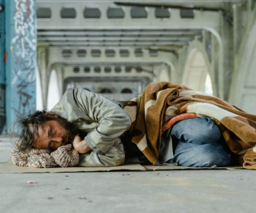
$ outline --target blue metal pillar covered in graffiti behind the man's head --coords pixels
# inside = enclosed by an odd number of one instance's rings
[[[18,117],[36,110],[35,0],[5,0],[5,17],[6,127],[9,133]]]

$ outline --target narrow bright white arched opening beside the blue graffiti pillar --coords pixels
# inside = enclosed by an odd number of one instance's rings
[[[60,100],[59,95],[59,82],[56,70],[53,69],[50,74],[48,97],[47,97],[47,110],[51,110],[56,103]]]

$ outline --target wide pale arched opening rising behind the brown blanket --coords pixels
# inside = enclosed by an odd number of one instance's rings
[[[197,48],[192,49],[187,56],[181,83],[195,91],[213,94],[213,85],[206,61],[203,53]]]

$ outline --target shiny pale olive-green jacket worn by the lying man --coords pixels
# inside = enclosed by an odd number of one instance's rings
[[[80,154],[78,166],[110,167],[123,164],[125,154],[120,135],[130,128],[130,117],[111,100],[82,88],[69,88],[51,112],[75,123],[87,133],[91,148]]]

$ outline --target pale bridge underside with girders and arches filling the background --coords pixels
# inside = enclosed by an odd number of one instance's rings
[[[56,97],[84,87],[129,100],[152,81],[171,81],[256,113],[255,0],[29,2],[36,3],[43,109],[58,101],[50,94],[54,87]],[[0,73],[0,84],[4,78]]]

